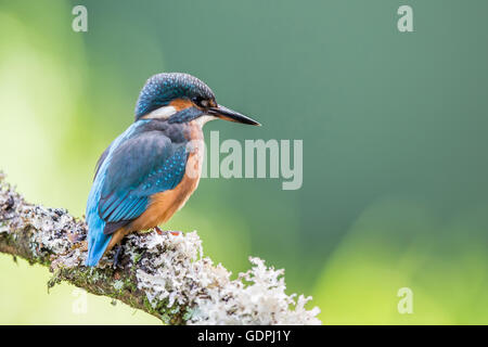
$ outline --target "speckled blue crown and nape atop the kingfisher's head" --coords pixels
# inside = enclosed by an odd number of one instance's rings
[[[145,82],[136,104],[136,120],[165,106],[175,99],[215,99],[214,92],[198,78],[181,73],[157,74]]]

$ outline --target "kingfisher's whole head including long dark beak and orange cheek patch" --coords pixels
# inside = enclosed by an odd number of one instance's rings
[[[188,74],[157,74],[147,79],[136,105],[136,120],[163,119],[168,123],[205,123],[220,118],[259,126],[256,120],[217,104],[207,85]]]

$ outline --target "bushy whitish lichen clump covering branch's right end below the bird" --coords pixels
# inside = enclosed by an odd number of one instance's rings
[[[134,240],[132,240],[133,242]],[[156,307],[168,300],[190,308],[188,324],[320,324],[319,308],[307,310],[311,299],[285,294],[283,270],[249,258],[253,268],[230,280],[221,265],[202,257],[196,232],[187,235],[149,234],[139,246],[147,257],[137,270],[138,288]],[[150,265],[146,267],[145,265]]]

